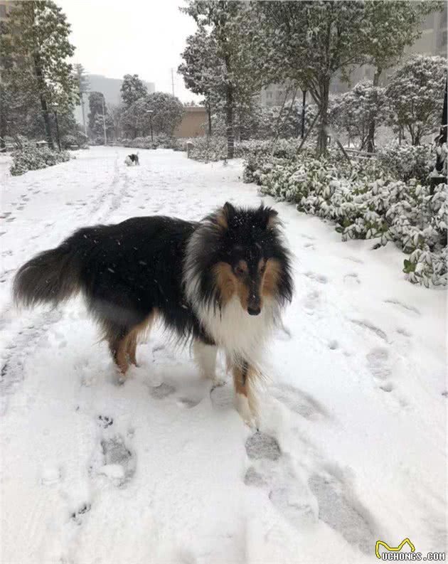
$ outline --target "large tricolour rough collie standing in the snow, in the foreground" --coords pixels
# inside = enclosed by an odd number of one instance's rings
[[[16,303],[55,306],[82,292],[124,378],[139,335],[156,318],[193,344],[215,378],[218,348],[233,373],[243,419],[256,413],[260,354],[292,298],[277,211],[225,203],[200,222],[161,216],[82,228],[18,270]]]

